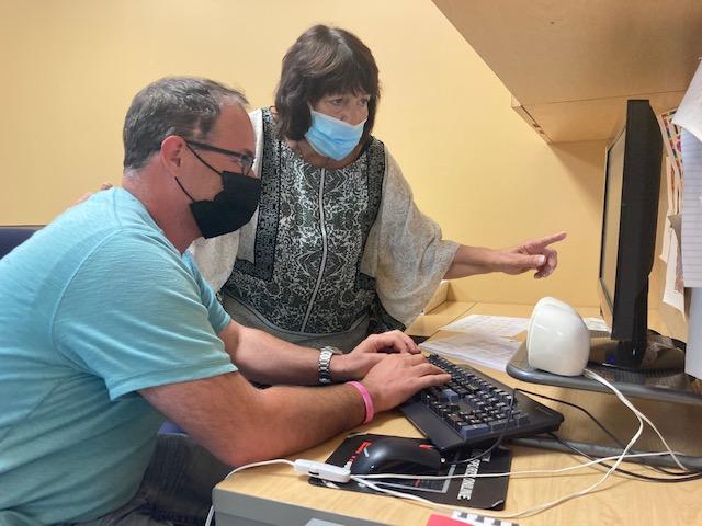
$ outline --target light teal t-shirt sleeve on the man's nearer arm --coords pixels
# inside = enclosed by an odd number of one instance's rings
[[[80,264],[52,324],[57,351],[116,399],[237,370],[227,322],[194,265],[158,237],[121,231]],[[222,327],[220,327],[222,325]]]

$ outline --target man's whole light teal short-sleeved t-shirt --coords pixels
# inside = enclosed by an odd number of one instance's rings
[[[163,422],[137,391],[237,370],[217,338],[229,320],[121,188],[0,260],[0,525],[126,503]]]

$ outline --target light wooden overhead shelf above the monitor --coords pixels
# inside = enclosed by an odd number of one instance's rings
[[[699,0],[433,0],[548,142],[608,140],[626,99],[678,105],[702,56]]]

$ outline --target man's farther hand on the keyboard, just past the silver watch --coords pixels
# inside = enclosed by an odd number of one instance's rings
[[[419,347],[400,331],[371,334],[349,354],[331,359],[331,377],[336,381],[361,380],[373,366],[394,353],[419,354]]]

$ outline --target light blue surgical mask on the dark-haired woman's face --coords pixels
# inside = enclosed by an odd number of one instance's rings
[[[309,112],[312,126],[305,139],[317,153],[340,161],[353,151],[363,135],[365,121],[354,126],[312,108]]]

